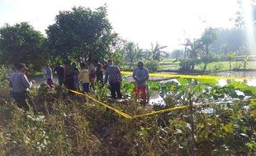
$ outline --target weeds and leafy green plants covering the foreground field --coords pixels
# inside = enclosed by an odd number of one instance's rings
[[[255,153],[255,103],[244,100],[255,97],[255,87],[233,81],[220,87],[213,80],[177,80],[149,82],[149,91],[159,91],[165,102],[154,105],[154,110],[134,99],[107,104],[135,116],[192,103],[193,124],[187,109],[128,120],[91,99],[81,103],[80,96],[55,99],[45,119],[5,103],[0,104],[0,154],[191,155],[191,137],[196,155]],[[133,94],[133,88],[122,82],[124,93]],[[106,102],[103,94],[107,88],[98,85],[92,96]]]

